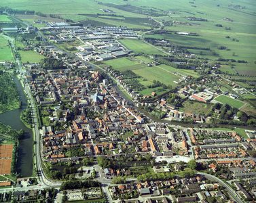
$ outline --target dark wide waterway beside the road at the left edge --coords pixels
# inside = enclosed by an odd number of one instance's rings
[[[27,106],[26,95],[23,92],[22,85],[20,81],[18,81],[18,78],[13,76],[13,79],[20,96],[22,107],[0,114],[0,122],[4,125],[9,125],[17,131],[20,131],[20,129],[24,130],[25,136],[24,139],[20,140],[18,150],[17,173],[19,177],[31,177],[33,173],[33,132],[20,120],[20,114],[26,110]]]

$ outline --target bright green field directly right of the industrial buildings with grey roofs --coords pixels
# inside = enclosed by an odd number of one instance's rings
[[[158,51],[157,49],[137,39],[122,39],[120,40],[120,42],[123,43],[126,47],[128,47],[128,49],[131,49],[132,51],[134,51],[135,53],[142,52],[142,53],[147,53],[149,55],[151,54],[164,55],[162,51]]]

